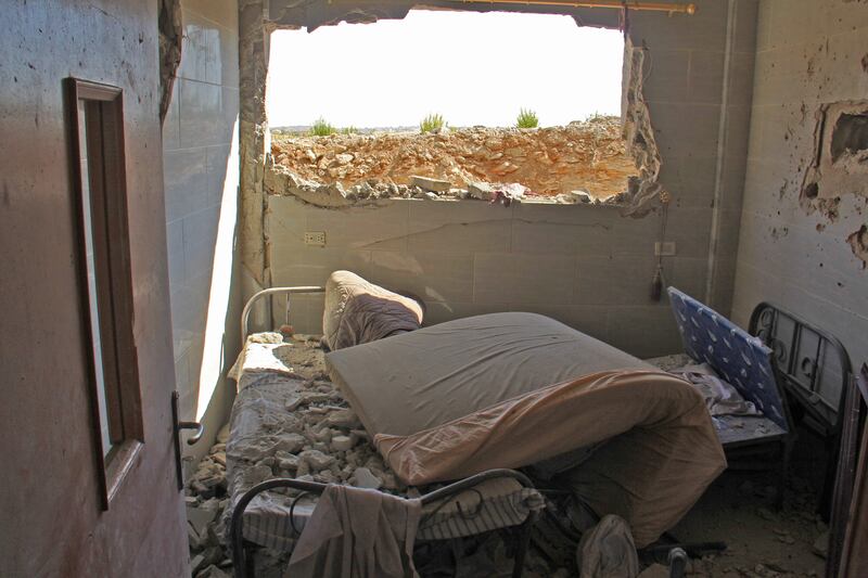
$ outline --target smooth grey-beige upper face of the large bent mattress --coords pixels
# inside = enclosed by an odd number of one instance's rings
[[[371,434],[407,436],[588,373],[653,369],[551,318],[490,313],[326,356]]]

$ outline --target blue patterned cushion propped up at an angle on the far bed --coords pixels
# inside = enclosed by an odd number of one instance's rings
[[[675,287],[668,291],[685,352],[709,363],[744,399],[788,432],[783,400],[771,369],[771,349],[689,295]]]

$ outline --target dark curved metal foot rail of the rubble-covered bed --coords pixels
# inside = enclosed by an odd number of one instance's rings
[[[475,486],[482,484],[483,481],[499,477],[513,478],[525,488],[534,488],[534,483],[521,472],[516,472],[514,470],[488,470],[422,496],[422,504],[430,504],[437,502],[438,500],[448,500],[450,498],[455,498],[465,490],[472,490],[475,488]],[[327,484],[320,484],[317,481],[304,481],[293,478],[273,478],[261,481],[244,492],[244,494],[238,501],[238,504],[235,504],[229,523],[232,567],[235,578],[254,578],[255,576],[253,556],[248,555],[250,544],[245,542],[243,531],[244,511],[247,509],[247,505],[251,503],[251,501],[260,492],[273,488],[293,488],[304,492],[319,494],[322,493],[327,487]],[[436,513],[436,511],[434,513]],[[518,549],[515,550],[515,561],[512,568],[513,578],[520,578],[522,570],[524,569],[524,557],[527,553],[527,545],[531,541],[531,529],[536,522],[537,515],[538,513],[535,510],[531,510],[527,514],[527,518],[521,524],[519,544]]]

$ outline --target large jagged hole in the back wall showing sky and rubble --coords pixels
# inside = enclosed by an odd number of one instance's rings
[[[624,54],[617,30],[542,14],[411,11],[404,21],[277,30],[266,188],[322,206],[629,204],[649,192],[659,155],[647,110],[644,125],[634,114],[641,87],[624,77],[635,67]]]

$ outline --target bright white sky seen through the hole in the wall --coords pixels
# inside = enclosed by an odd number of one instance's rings
[[[271,35],[269,125],[540,126],[621,114],[624,40],[569,16],[411,11],[403,21]]]

